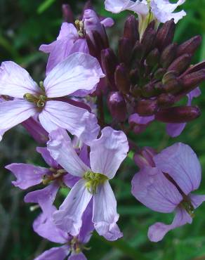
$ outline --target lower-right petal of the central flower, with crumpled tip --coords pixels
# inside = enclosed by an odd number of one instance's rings
[[[122,233],[117,226],[118,219],[117,202],[110,183],[106,181],[103,185],[98,186],[97,192],[93,196],[95,230],[107,240],[117,240],[122,237]]]

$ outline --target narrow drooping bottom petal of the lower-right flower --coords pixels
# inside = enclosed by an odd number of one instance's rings
[[[166,235],[166,233],[169,230],[178,228],[179,226],[183,226],[186,223],[192,223],[191,216],[189,214],[187,214],[185,209],[177,208],[176,216],[173,219],[173,222],[171,223],[171,225],[166,225],[161,222],[155,223],[154,225],[150,226],[150,228],[148,230],[148,238],[152,242],[159,242],[160,240],[162,240],[164,238],[164,235]]]

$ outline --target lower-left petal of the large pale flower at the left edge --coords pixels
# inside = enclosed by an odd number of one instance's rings
[[[0,130],[11,129],[35,113],[34,105],[26,100],[11,100],[0,103]]]

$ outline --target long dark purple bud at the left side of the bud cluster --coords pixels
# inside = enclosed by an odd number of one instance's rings
[[[102,69],[107,77],[107,82],[110,85],[110,89],[117,90],[117,86],[114,82],[114,72],[116,70],[118,61],[117,57],[111,48],[106,48],[101,51]]]

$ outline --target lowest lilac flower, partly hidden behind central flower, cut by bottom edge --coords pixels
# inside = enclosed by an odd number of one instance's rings
[[[53,222],[53,212],[56,208],[51,206],[47,212],[43,212],[35,219],[33,223],[34,231],[51,242],[62,244],[60,247],[52,247],[46,250],[34,260],[64,260],[68,256],[68,260],[86,260],[86,256],[82,253],[85,244],[90,240],[94,226],[91,222],[92,204],[89,203],[82,219],[83,225],[76,237],[67,234],[65,231],[55,226]]]

